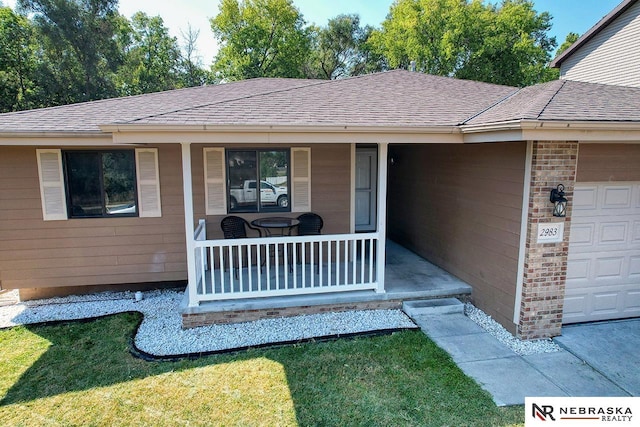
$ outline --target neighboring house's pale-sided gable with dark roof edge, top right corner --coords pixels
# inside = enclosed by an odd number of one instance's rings
[[[562,79],[640,87],[640,2],[576,50],[560,66]]]

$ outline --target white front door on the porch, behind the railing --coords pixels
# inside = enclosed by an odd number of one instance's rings
[[[378,151],[356,148],[356,231],[376,231]]]

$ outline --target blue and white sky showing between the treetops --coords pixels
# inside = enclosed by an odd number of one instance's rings
[[[492,0],[495,3],[497,0]],[[558,46],[568,33],[584,34],[622,0],[534,0],[538,12],[549,12],[553,17],[550,35]],[[15,7],[15,0],[0,0]],[[199,31],[198,54],[204,65],[210,65],[218,46],[211,32],[209,19],[218,13],[219,0],[120,0],[120,13],[131,18],[137,11],[150,16],[160,15],[171,35],[183,44],[181,33],[189,25]],[[339,14],[357,13],[361,25],[379,27],[393,0],[293,0],[308,23],[326,25]]]

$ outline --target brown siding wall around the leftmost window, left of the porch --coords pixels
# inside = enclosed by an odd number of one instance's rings
[[[159,170],[162,217],[43,221],[36,149],[0,147],[2,287],[32,298],[50,293],[42,288],[186,280],[178,145],[159,146]]]

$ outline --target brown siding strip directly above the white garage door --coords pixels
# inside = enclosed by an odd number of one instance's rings
[[[640,181],[640,144],[580,144],[577,182]]]

